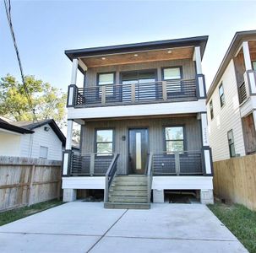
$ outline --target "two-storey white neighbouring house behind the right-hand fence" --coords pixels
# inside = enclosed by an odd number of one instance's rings
[[[256,30],[237,32],[207,94],[213,160],[256,152]]]

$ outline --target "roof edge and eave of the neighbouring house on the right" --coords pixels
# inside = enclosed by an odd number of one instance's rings
[[[213,94],[216,86],[220,82],[221,77],[225,72],[227,65],[236,54],[239,47],[242,45],[242,41],[247,41],[247,40],[256,40],[256,30],[239,31],[234,35],[233,39],[231,40],[231,44],[228,47],[226,54],[222,59],[221,65],[217,73],[215,74],[215,78],[210,84],[210,89],[207,92],[206,103],[210,100],[210,96]]]

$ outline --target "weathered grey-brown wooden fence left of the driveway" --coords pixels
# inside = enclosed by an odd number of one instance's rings
[[[0,156],[0,212],[61,195],[61,161]]]

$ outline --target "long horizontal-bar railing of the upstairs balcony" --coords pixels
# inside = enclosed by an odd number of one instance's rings
[[[195,79],[107,84],[84,88],[74,86],[74,107],[176,102],[197,100],[198,96]]]

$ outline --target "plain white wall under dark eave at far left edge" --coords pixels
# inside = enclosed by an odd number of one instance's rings
[[[19,156],[21,135],[0,132],[0,155]]]

